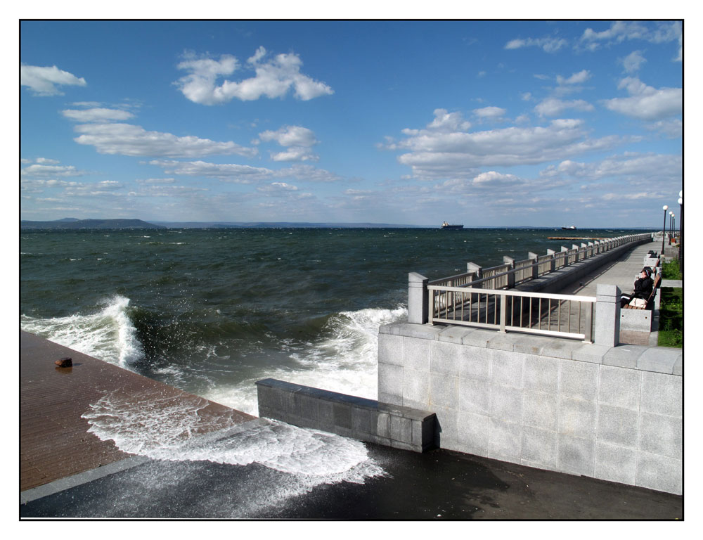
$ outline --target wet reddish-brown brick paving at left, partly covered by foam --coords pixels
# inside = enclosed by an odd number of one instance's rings
[[[71,368],[54,361],[70,356]],[[161,403],[202,400],[200,416],[227,423],[254,417],[20,332],[20,491],[114,463],[131,454],[88,432],[81,415],[108,392]],[[209,423],[217,425],[217,423]]]

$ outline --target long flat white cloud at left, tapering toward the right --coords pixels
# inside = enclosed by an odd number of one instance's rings
[[[197,158],[202,155],[238,154],[252,157],[256,148],[246,148],[232,141],[217,142],[195,136],[175,136],[160,131],[146,131],[133,124],[80,124],[75,127],[79,144],[95,146],[101,154]]]

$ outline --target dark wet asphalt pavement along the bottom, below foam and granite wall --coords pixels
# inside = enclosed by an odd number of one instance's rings
[[[367,445],[385,477],[304,491],[263,465],[148,461],[20,506],[21,518],[681,520],[683,498],[452,451]]]

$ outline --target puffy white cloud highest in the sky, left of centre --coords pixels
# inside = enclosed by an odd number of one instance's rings
[[[282,98],[290,89],[296,98],[308,101],[318,96],[333,94],[333,89],[300,72],[302,60],[295,53],[278,54],[264,61],[266,49],[259,47],[254,56],[247,59],[247,67],[253,69],[254,77],[239,82],[224,80],[217,84],[219,77],[232,75],[240,67],[238,60],[231,55],[222,55],[219,60],[193,58],[188,55],[177,68],[188,71],[176,83],[183,96],[194,103],[216,105],[234,98],[252,101],[262,96]]]

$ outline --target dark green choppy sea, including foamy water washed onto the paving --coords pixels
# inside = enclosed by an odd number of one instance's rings
[[[505,255],[526,259],[528,252],[542,255],[583,241],[550,236],[612,238],[638,232],[20,231],[20,327],[254,416],[254,383],[263,378],[376,399],[378,329],[406,320],[409,272],[440,278],[460,274],[467,262],[495,266]],[[125,429],[144,423],[110,399],[105,396],[84,416],[98,437],[133,453],[144,449],[157,459],[263,463],[295,477],[288,495],[320,482],[364,482],[384,474],[363,443],[276,422],[259,424],[246,443],[233,436],[175,449],[179,437],[164,437],[154,449],[144,442],[162,438],[167,423],[158,426],[158,435]],[[173,430],[182,432],[189,414],[193,411],[183,412]],[[257,458],[264,449],[266,458]]]

